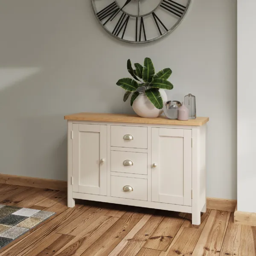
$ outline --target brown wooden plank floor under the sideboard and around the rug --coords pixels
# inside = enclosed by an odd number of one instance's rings
[[[191,215],[91,201],[68,208],[66,193],[0,184],[0,204],[56,212],[0,250],[0,256],[256,256],[256,227],[233,212]]]

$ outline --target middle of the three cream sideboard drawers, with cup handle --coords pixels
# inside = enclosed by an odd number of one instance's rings
[[[148,174],[148,154],[111,151],[111,172]]]

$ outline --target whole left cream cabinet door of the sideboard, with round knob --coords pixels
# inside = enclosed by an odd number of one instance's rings
[[[107,125],[73,124],[73,192],[107,195]]]

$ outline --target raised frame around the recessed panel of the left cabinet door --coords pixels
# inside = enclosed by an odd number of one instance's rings
[[[107,195],[107,125],[73,124],[73,192]],[[79,132],[99,133],[99,187],[79,184]],[[104,163],[100,160],[104,159]]]

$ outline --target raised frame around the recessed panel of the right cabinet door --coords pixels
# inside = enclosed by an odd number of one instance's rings
[[[183,196],[163,195],[160,193],[160,148],[159,138],[183,137]],[[168,150],[168,149],[166,149]],[[167,204],[192,206],[192,130],[172,128],[151,128],[151,200]]]

